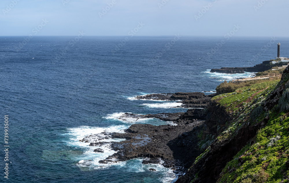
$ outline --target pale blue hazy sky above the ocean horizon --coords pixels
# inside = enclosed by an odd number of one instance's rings
[[[288,0],[1,0],[0,36],[288,36]],[[238,29],[236,28],[238,27]]]

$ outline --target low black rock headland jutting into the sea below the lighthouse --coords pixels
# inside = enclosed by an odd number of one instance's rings
[[[262,64],[257,64],[254,67],[223,67],[221,69],[212,69],[210,72],[226,73],[226,74],[236,74],[244,72],[264,72],[271,69],[269,65],[270,61],[263,61]]]

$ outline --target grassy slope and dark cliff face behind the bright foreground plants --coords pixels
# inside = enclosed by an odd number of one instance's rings
[[[251,88],[238,88],[235,92],[212,98],[213,111],[211,113],[223,112],[229,118],[205,122],[199,147],[207,148],[196,158],[180,182],[184,182],[184,179],[186,182],[216,182],[218,180],[226,163],[247,145],[261,126],[265,125],[260,116],[267,113],[260,106],[278,83],[279,81],[264,81],[251,85]]]

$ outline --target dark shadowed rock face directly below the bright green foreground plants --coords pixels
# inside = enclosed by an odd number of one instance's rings
[[[231,139],[215,141],[210,145],[210,151],[194,164],[179,182],[217,182],[227,162],[232,160],[242,148],[256,135],[258,129],[264,127],[266,121],[242,127]],[[196,176],[196,174],[198,174]]]

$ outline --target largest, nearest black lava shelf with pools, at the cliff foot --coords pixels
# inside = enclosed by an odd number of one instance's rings
[[[174,167],[177,159],[180,162],[187,160],[188,163],[182,166],[188,168],[192,163],[188,157],[197,157],[200,154],[195,147],[198,142],[197,127],[202,123],[203,121],[195,120],[192,123],[177,126],[133,124],[125,130],[126,133],[110,134],[112,139],[126,140],[113,142],[110,148],[117,152],[105,160],[99,161],[99,163],[106,164],[116,160],[125,161],[132,158],[148,157],[149,160],[143,160],[144,164],[158,164],[161,158],[164,160],[162,164],[164,167]],[[183,136],[178,137],[180,134]]]

